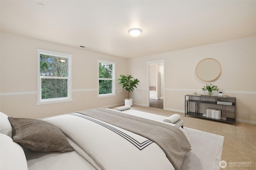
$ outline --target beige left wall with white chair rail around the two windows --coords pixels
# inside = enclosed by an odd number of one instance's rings
[[[116,62],[116,77],[128,74],[127,59],[1,32],[0,111],[12,117],[42,118],[124,103],[126,91],[117,86],[116,96],[97,98],[97,59]],[[36,105],[37,52],[45,49],[72,54],[73,102]],[[86,104],[89,100],[89,104]]]

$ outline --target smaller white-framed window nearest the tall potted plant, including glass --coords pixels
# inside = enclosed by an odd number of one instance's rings
[[[98,97],[115,96],[115,64],[98,60]]]

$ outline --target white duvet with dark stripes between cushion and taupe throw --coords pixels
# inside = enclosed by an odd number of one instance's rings
[[[98,170],[174,170],[164,151],[148,139],[80,113],[44,119]]]

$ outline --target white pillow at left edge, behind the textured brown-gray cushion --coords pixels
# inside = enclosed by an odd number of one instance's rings
[[[0,133],[12,137],[12,125],[8,116],[0,112]]]

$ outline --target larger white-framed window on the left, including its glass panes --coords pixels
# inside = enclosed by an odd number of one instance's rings
[[[72,101],[72,55],[37,49],[38,102],[52,104]]]

